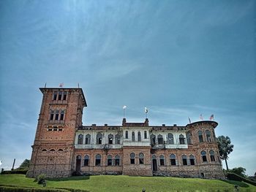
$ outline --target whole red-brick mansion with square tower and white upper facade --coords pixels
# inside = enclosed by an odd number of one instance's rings
[[[27,177],[80,174],[224,178],[214,134],[218,123],[187,126],[82,125],[81,88],[39,88],[42,106]]]

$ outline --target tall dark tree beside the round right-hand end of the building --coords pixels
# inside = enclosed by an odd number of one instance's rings
[[[234,145],[231,145],[231,140],[229,137],[219,136],[218,137],[218,147],[219,147],[219,156],[222,160],[225,160],[227,171],[227,159],[228,155],[233,151]]]

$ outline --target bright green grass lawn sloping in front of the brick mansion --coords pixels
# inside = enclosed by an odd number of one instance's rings
[[[23,174],[0,175],[0,185],[18,185],[41,188],[34,179]],[[69,177],[59,180],[47,180],[47,188],[78,188],[85,191],[256,191],[256,187],[247,183],[221,180],[182,179],[176,177],[129,177],[124,175]]]

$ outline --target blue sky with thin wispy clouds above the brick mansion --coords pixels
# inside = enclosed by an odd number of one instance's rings
[[[256,172],[256,1],[0,1],[0,168],[31,158],[40,87],[77,88],[83,125],[214,114]],[[223,162],[225,168],[225,163]]]

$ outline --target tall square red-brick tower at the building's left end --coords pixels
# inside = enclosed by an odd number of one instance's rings
[[[82,126],[86,98],[81,88],[39,89],[42,106],[27,177],[69,177],[75,169],[75,132]]]

